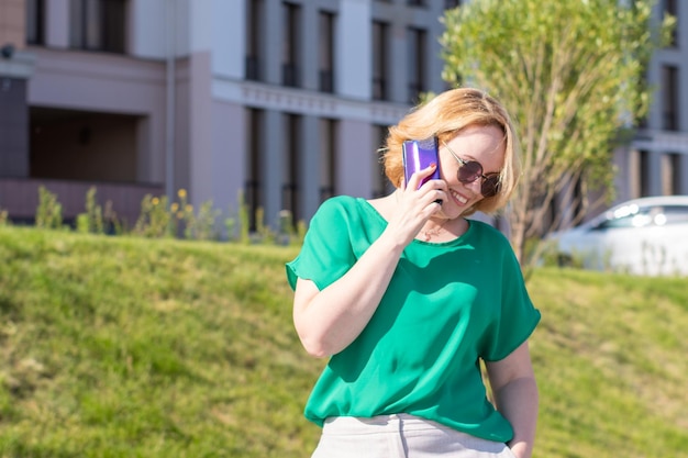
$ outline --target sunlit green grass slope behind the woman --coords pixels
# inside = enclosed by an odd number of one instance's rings
[[[0,227],[0,457],[307,457],[293,247]],[[539,269],[536,458],[688,457],[688,280]]]

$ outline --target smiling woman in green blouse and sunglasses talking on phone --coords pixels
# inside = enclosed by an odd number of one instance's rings
[[[430,137],[440,164],[404,183],[402,142]],[[306,406],[323,426],[313,457],[531,456],[540,312],[509,242],[466,220],[507,203],[518,153],[495,99],[448,90],[390,127],[391,194],[318,210],[287,264],[299,338],[330,357]]]

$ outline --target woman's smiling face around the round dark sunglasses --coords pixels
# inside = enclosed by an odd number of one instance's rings
[[[473,182],[459,181],[458,169],[465,167],[462,160],[464,164],[471,160],[480,164],[482,176],[498,174],[504,161],[504,134],[493,125],[468,126],[446,143],[440,141],[439,147],[440,175],[448,188],[448,200],[442,204],[442,212],[454,219],[485,199],[481,193],[484,178],[478,177]]]

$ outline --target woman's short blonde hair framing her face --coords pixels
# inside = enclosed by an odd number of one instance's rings
[[[401,144],[407,139],[436,136],[450,142],[468,126],[496,126],[504,133],[506,153],[500,170],[499,192],[485,198],[465,214],[493,213],[503,208],[521,175],[520,146],[507,110],[486,92],[473,88],[451,89],[418,105],[397,125],[389,127],[382,164],[387,178],[397,187],[403,179]]]

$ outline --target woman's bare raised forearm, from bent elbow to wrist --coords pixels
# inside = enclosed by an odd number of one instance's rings
[[[404,246],[393,235],[382,234],[341,279],[295,306],[297,333],[311,355],[334,355],[360,334],[377,310]]]

